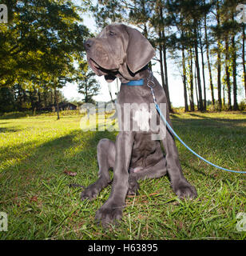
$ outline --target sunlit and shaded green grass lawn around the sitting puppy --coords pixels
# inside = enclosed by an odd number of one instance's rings
[[[173,114],[177,134],[198,154],[232,170],[246,166],[246,113]],[[177,142],[185,177],[198,198],[181,201],[169,178],[140,182],[138,196],[126,198],[119,226],[93,221],[109,197],[105,188],[93,202],[81,190],[97,179],[97,142],[116,132],[83,132],[79,116],[40,115],[0,119],[0,212],[8,231],[0,239],[245,239],[236,214],[246,212],[245,174],[216,170]],[[70,177],[65,170],[77,172]]]

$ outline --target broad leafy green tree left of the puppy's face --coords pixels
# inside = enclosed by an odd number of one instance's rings
[[[79,24],[83,8],[69,0],[11,1],[10,21],[0,24],[0,86],[31,83],[39,92],[42,83],[56,92],[71,81],[89,36]]]

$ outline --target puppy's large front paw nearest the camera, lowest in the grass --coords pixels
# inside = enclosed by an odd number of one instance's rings
[[[109,226],[109,224],[117,224],[122,217],[122,209],[124,206],[117,206],[114,203],[101,206],[96,212],[95,220],[97,223],[101,222],[102,226]]]

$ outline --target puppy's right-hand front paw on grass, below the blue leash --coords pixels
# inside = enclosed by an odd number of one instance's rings
[[[173,191],[179,198],[196,198],[197,193],[194,186],[191,186],[186,180],[173,184]]]

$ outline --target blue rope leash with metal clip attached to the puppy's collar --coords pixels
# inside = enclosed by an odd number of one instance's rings
[[[197,158],[200,158],[201,160],[203,160],[204,162],[207,162],[209,165],[211,166],[214,166],[220,170],[226,170],[226,171],[229,171],[231,173],[236,173],[236,174],[246,174],[246,171],[240,171],[240,170],[228,170],[228,169],[225,169],[223,167],[220,167],[220,166],[216,166],[215,164],[213,164],[212,162],[209,162],[208,160],[206,160],[205,158],[201,157],[199,154],[196,154],[196,152],[194,150],[192,150],[189,146],[187,146],[185,144],[185,142],[183,142],[181,140],[181,138],[177,135],[177,133],[173,130],[173,128],[169,125],[169,123],[167,122],[167,120],[165,119],[164,115],[161,113],[161,110],[160,110],[160,107],[158,106],[157,104],[157,100],[156,100],[156,97],[155,97],[155,94],[153,93],[153,87],[152,86],[149,86],[149,82],[153,82],[153,80],[149,80],[148,79],[148,83],[147,83],[147,86],[150,88],[151,90],[151,93],[153,95],[153,102],[155,103],[155,106],[156,106],[156,109],[157,109],[157,112],[160,114],[160,117],[161,119],[163,120],[163,122],[165,123],[165,126],[167,126],[169,128],[169,130],[175,135],[175,137],[189,150],[192,152],[192,154],[195,154]],[[154,82],[153,82],[154,84]]]

